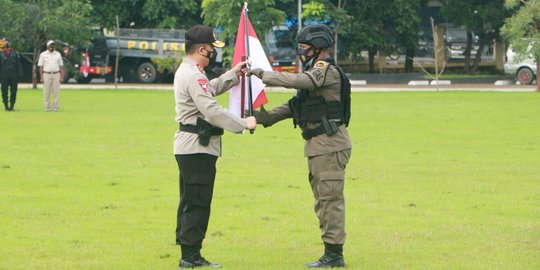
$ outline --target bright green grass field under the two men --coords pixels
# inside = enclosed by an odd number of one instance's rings
[[[0,112],[0,269],[176,269],[172,92],[64,90],[58,113],[40,90],[18,100]],[[348,269],[540,269],[538,93],[354,93],[351,122]],[[306,167],[290,121],[226,133],[203,255],[317,259]]]

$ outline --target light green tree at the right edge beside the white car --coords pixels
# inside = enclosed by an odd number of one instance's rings
[[[516,13],[501,28],[520,58],[528,55],[536,61],[536,91],[540,91],[540,0],[506,0]]]

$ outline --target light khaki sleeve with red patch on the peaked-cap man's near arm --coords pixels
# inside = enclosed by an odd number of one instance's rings
[[[208,79],[201,74],[193,76],[189,81],[188,92],[197,109],[210,124],[231,132],[242,132],[246,128],[244,119],[236,117],[217,103],[212,94],[217,91],[212,89],[213,87]]]

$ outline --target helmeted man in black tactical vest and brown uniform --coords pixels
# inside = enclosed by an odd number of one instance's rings
[[[326,25],[303,28],[296,37],[298,55],[305,71],[299,74],[254,69],[267,85],[299,89],[289,102],[273,110],[261,107],[255,112],[257,123],[269,127],[286,118],[300,126],[308,158],[309,183],[315,196],[315,213],[324,242],[324,255],[307,267],[344,267],[345,166],[351,155],[351,141],[346,127],[350,118],[349,79],[330,58],[327,49],[334,44]]]

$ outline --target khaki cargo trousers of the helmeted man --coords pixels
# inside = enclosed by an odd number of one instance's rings
[[[351,150],[308,158],[309,183],[315,197],[322,240],[329,244],[345,243],[345,167]]]

